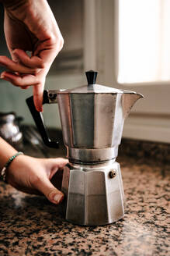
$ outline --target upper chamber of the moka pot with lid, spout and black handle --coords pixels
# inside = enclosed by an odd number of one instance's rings
[[[43,104],[58,103],[67,157],[75,162],[103,162],[116,158],[124,119],[134,103],[143,98],[134,91],[124,91],[95,84],[97,73],[86,72],[88,85],[68,90],[43,92]],[[33,97],[26,99],[44,144],[57,148],[37,112]]]

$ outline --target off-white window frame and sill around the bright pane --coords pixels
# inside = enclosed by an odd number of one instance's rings
[[[144,94],[125,122],[123,137],[170,143],[170,83],[118,84],[119,0],[84,0],[85,70],[99,72],[98,83]]]

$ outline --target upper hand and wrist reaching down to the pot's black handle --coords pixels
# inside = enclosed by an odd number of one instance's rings
[[[17,87],[33,86],[34,104],[43,111],[43,87],[64,40],[46,0],[4,0],[5,38],[12,59],[0,56],[9,71],[1,78]],[[31,57],[26,51],[32,52]]]

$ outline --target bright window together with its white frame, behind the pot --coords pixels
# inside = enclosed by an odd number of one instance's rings
[[[85,69],[99,71],[99,84],[144,95],[123,137],[170,143],[170,1],[85,0],[85,6]]]

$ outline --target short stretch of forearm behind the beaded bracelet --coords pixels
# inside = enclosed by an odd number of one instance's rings
[[[12,155],[16,154],[16,149],[12,148],[5,140],[0,137],[0,172],[4,167],[5,163],[9,161]]]

